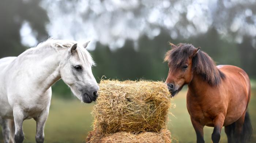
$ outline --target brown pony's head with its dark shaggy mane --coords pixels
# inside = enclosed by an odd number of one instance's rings
[[[175,96],[185,84],[193,79],[194,74],[202,78],[211,86],[217,85],[224,77],[218,70],[215,62],[207,53],[199,51],[191,44],[172,45],[166,53],[165,61],[168,62],[169,73],[166,83],[172,96]]]

